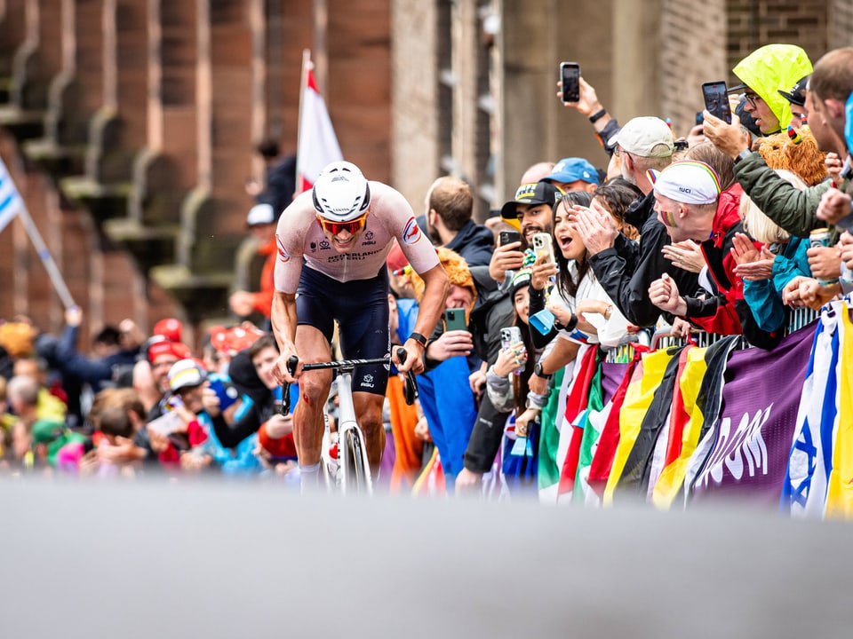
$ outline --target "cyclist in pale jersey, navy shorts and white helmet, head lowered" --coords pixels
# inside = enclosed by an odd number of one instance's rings
[[[303,487],[319,484],[323,440],[323,404],[331,371],[302,375],[287,370],[296,355],[300,363],[331,359],[334,320],[339,324],[346,359],[384,357],[388,334],[386,257],[396,239],[412,268],[426,282],[414,331],[403,344],[408,357],[395,366],[405,373],[423,371],[426,336],[444,310],[449,283],[435,249],[421,233],[411,206],[392,187],[367,181],[350,162],[332,162],[310,192],[284,209],[276,231],[275,296],[272,326],[281,354],[273,375],[278,383],[299,379],[299,403],[293,413],[293,437]],[[353,400],[366,439],[371,469],[379,469],[385,448],[382,403],[388,368],[357,367]]]

